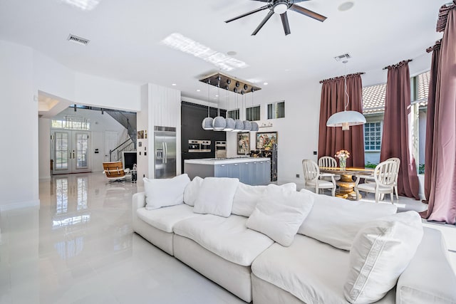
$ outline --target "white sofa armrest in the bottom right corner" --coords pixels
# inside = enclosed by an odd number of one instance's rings
[[[400,275],[396,303],[456,303],[456,276],[442,233],[424,227],[415,256]]]

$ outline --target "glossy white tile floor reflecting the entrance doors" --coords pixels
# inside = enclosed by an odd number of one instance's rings
[[[105,184],[100,173],[56,176],[40,182],[39,209],[2,212],[0,303],[244,303],[133,233],[138,191]],[[425,208],[403,197],[396,204]],[[455,226],[425,225],[456,251]]]

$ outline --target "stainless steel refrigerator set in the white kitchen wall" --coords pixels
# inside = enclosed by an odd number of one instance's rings
[[[176,128],[154,127],[155,178],[176,176]]]

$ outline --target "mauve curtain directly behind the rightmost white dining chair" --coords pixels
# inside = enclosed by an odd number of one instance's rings
[[[408,62],[402,61],[397,65],[388,66],[380,162],[390,157],[398,157],[400,159],[398,192],[402,196],[419,199],[416,164],[409,149],[410,72]]]

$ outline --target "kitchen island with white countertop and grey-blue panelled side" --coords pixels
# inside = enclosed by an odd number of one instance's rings
[[[194,177],[236,177],[244,184],[271,182],[271,159],[268,157],[234,157],[185,159],[184,173]]]

